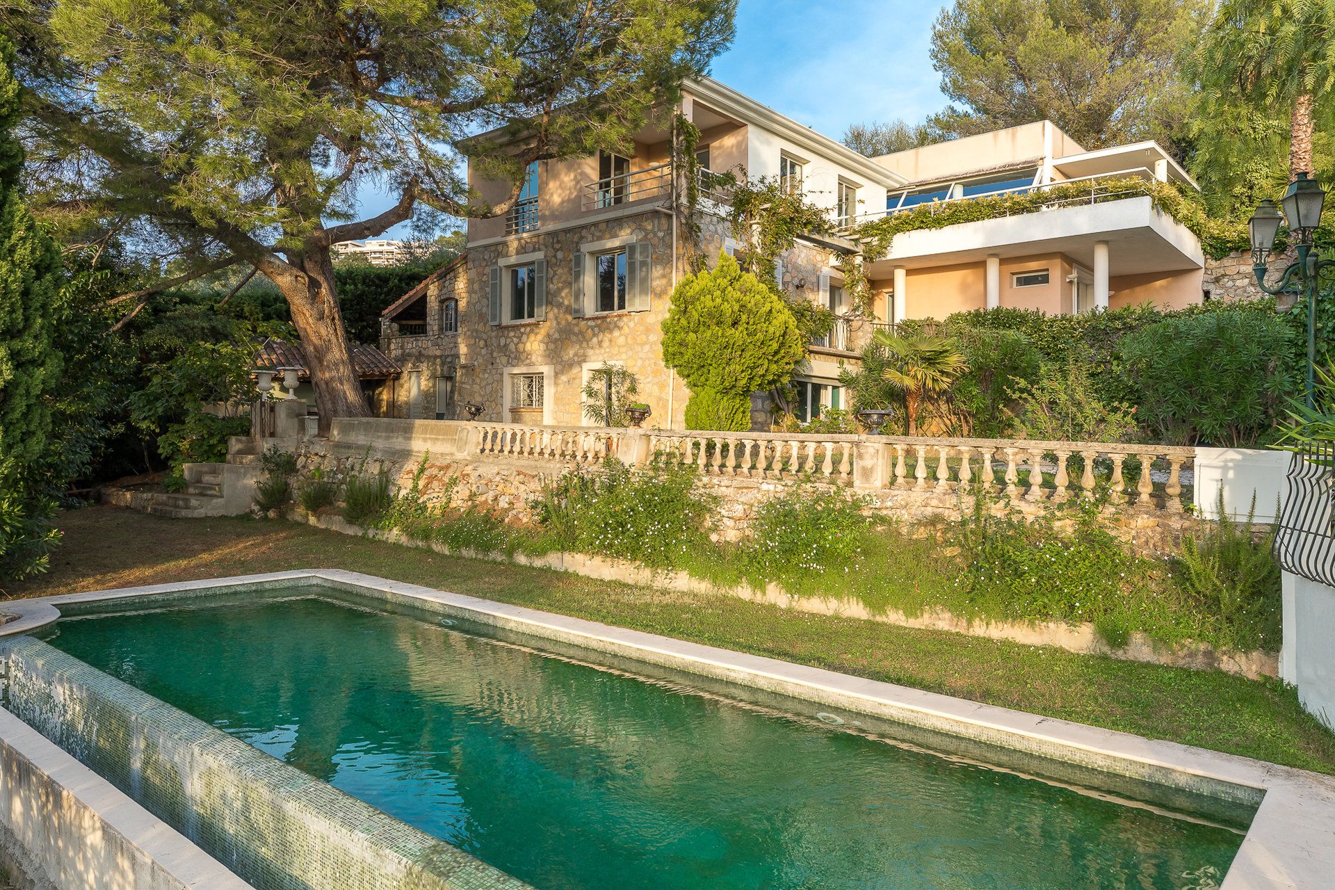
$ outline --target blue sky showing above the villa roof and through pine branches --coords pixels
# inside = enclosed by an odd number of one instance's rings
[[[741,0],[737,39],[714,60],[716,80],[838,137],[852,123],[940,111],[945,97],[928,47],[937,0]],[[367,189],[363,215],[390,205]],[[409,224],[390,238],[406,236]]]

